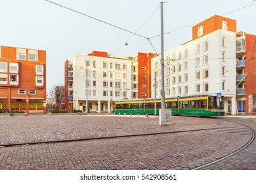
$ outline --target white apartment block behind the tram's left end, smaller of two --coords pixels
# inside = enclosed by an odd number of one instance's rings
[[[69,67],[72,67],[73,81],[68,81],[72,86],[68,98],[73,100],[74,109],[85,111],[86,91],[89,110],[98,113],[110,112],[112,101],[131,99],[131,60],[121,56],[77,54]]]

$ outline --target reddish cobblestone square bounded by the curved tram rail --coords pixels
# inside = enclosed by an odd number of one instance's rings
[[[0,169],[194,169],[252,137],[243,125],[219,125],[217,118],[172,121],[160,126],[155,117],[0,116]]]

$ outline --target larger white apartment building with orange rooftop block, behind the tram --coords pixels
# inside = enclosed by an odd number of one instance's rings
[[[221,92],[224,110],[236,114],[236,32],[229,31],[228,21],[221,18],[213,16],[195,25],[197,33],[195,36],[193,27],[192,41],[164,52],[165,96]],[[224,26],[216,28],[211,25],[218,21]],[[209,26],[213,29],[209,29]],[[160,97],[160,56],[152,59],[152,81],[154,73],[158,83],[157,96]]]

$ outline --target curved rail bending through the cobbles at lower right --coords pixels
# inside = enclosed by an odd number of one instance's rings
[[[251,127],[249,127],[248,125],[241,124],[241,123],[239,123],[239,122],[234,122],[234,121],[232,121],[232,120],[224,120],[224,119],[222,119],[222,120],[223,120],[223,121],[226,121],[226,122],[232,122],[232,123],[240,124],[240,125],[243,125],[244,127],[247,127],[247,129],[249,129],[249,130],[251,131],[251,133],[252,133],[251,139],[250,139],[249,142],[247,142],[244,146],[242,146],[242,147],[239,148],[238,150],[236,150],[236,151],[234,151],[234,152],[232,152],[232,153],[230,153],[230,154],[224,156],[223,158],[217,159],[217,160],[215,160],[215,161],[211,161],[211,162],[209,162],[209,163],[206,163],[205,165],[202,165],[202,166],[200,166],[200,167],[196,167],[196,168],[194,168],[194,169],[192,169],[192,170],[203,169],[203,168],[205,168],[205,167],[207,167],[207,166],[209,166],[209,165],[213,165],[214,163],[218,163],[218,162],[220,162],[220,161],[223,161],[223,160],[226,159],[226,158],[230,158],[231,156],[234,156],[234,154],[237,154],[238,152],[241,152],[242,150],[244,150],[245,148],[247,148],[247,146],[249,146],[249,145],[254,141],[254,139],[255,139],[255,131],[254,131]]]

